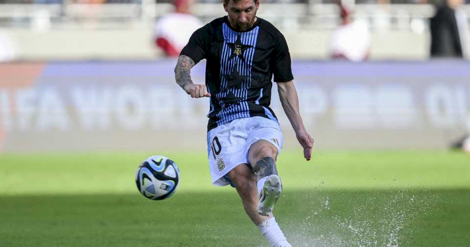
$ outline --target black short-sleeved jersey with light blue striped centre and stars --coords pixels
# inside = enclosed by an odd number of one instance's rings
[[[238,118],[277,121],[269,107],[271,79],[286,82],[293,76],[287,43],[274,25],[258,17],[249,30],[237,32],[221,17],[196,30],[180,55],[195,63],[207,60],[208,131]]]

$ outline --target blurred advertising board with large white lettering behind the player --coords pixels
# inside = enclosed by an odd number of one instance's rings
[[[0,64],[2,152],[206,149],[208,99],[175,60]],[[317,148],[446,148],[470,131],[469,63],[294,61]],[[194,67],[204,80],[205,64]],[[274,87],[273,90],[276,90]],[[284,148],[298,148],[277,93]],[[44,145],[47,143],[47,145]]]

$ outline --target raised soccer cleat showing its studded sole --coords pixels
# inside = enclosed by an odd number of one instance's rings
[[[281,196],[281,192],[281,178],[276,174],[269,175],[259,195],[258,213],[269,216],[273,211],[274,204]]]

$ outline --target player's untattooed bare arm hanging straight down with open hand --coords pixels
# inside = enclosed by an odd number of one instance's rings
[[[302,148],[304,148],[304,157],[310,160],[312,157],[313,138],[305,130],[304,122],[300,116],[299,98],[295,90],[294,82],[280,82],[278,85],[279,98],[282,108],[294,128],[295,135]]]

